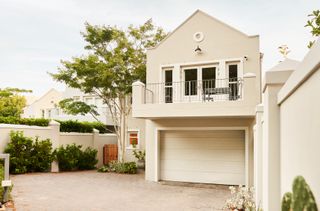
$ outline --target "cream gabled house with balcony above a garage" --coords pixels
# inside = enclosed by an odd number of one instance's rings
[[[259,36],[196,11],[147,52],[132,115],[146,120],[146,179],[253,185]]]

